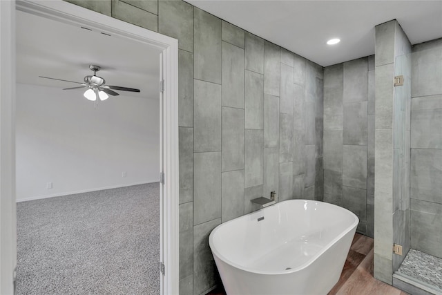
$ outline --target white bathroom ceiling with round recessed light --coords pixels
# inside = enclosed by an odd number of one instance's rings
[[[374,55],[374,26],[392,19],[412,44],[442,37],[442,1],[186,1],[321,66]]]

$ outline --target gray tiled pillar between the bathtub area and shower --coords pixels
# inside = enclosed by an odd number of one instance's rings
[[[375,74],[374,74],[374,118],[369,120],[369,129],[375,130],[374,137],[374,277],[392,284],[394,268],[400,265],[404,256],[392,254],[392,244],[403,245],[408,251],[409,227],[407,225],[406,140],[410,138],[406,128],[405,106],[407,91],[410,89],[410,71],[407,62],[401,62],[400,56],[410,53],[411,46],[407,36],[396,20],[376,26]],[[404,86],[394,87],[395,75],[404,75]],[[369,78],[370,79],[370,78]],[[367,106],[373,110],[373,104]],[[373,120],[374,119],[374,120]],[[373,122],[374,121],[374,122]],[[374,126],[373,126],[374,124]],[[404,136],[405,135],[405,136]],[[409,142],[409,141],[408,141]],[[373,150],[369,151],[372,158]],[[370,162],[372,160],[369,160]],[[373,179],[372,169],[369,178]],[[368,187],[367,187],[368,188]],[[370,191],[372,184],[369,185]]]

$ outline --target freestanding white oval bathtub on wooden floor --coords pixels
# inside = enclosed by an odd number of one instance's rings
[[[358,222],[334,204],[287,200],[219,225],[209,245],[228,295],[327,294]]]

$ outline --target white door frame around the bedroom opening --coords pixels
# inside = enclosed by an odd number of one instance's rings
[[[0,294],[12,294],[16,267],[15,216],[15,8],[73,25],[86,25],[117,38],[162,50],[164,93],[160,135],[164,184],[161,204],[161,294],[178,294],[178,43],[176,39],[99,14],[66,1],[0,0]],[[160,267],[158,267],[160,275]]]

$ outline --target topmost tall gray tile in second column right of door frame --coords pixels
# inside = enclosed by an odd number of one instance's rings
[[[221,84],[221,19],[194,9],[195,79]]]

